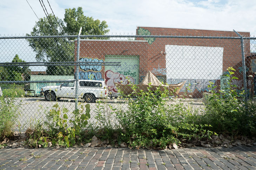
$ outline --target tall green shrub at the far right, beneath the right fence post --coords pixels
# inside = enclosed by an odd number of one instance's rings
[[[235,69],[228,68],[230,80],[237,79],[233,76]],[[210,124],[209,130],[216,133],[229,135],[242,134],[253,136],[256,134],[256,103],[245,102],[240,98],[244,93],[237,93],[237,87],[228,81],[229,88],[216,93],[210,90],[206,101],[205,113],[198,117],[198,123]],[[214,89],[213,83],[209,88]]]

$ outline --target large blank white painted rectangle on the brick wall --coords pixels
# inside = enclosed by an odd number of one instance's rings
[[[166,76],[168,79],[220,80],[223,47],[166,45]]]

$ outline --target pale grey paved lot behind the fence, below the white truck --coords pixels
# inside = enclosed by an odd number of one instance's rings
[[[79,100],[83,104],[86,104],[83,100]],[[128,103],[125,102],[124,100],[116,100],[116,99],[107,99],[105,100],[105,105],[110,104],[114,108],[122,108],[122,109],[127,109]],[[20,117],[19,121],[21,124],[21,127],[23,127],[24,130],[26,130],[28,127],[31,126],[31,124],[35,120],[46,120],[45,115],[48,113],[50,109],[53,108],[53,105],[56,104],[56,102],[47,102],[45,101],[45,98],[42,97],[24,97],[24,98],[17,98],[16,103],[21,103],[21,112],[20,112]],[[61,98],[59,101],[59,106],[60,108],[67,108],[69,110],[68,116],[71,117],[71,112],[75,108],[75,101],[74,99],[64,99]],[[169,99],[167,104],[177,104],[177,103],[183,103],[184,105],[190,107],[190,109],[201,109],[203,110],[204,105],[202,103],[202,99],[183,99],[180,101],[180,99]],[[96,119],[94,116],[96,115],[96,103],[90,103],[90,114],[91,118],[89,119],[89,123],[95,123]],[[109,107],[108,107],[109,108]],[[110,114],[110,109],[105,109],[105,114]],[[113,117],[113,115],[112,115]],[[115,121],[113,119],[113,121]],[[18,129],[18,126],[17,126]]]

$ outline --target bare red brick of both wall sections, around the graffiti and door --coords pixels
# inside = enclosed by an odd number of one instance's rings
[[[215,31],[215,30],[196,30],[196,29],[176,29],[176,28],[156,28],[141,27],[150,31],[151,35],[181,35],[181,36],[233,36],[237,37],[233,31]],[[249,32],[239,32],[242,36],[249,37]],[[137,34],[137,29],[136,29]],[[136,38],[136,40],[145,40]],[[113,41],[113,40],[81,40],[80,41],[80,58],[98,58],[105,61],[106,55],[124,55],[140,56],[139,77],[153,71],[153,68],[166,68],[165,45],[188,45],[188,46],[206,46],[206,47],[223,47],[223,72],[228,67],[236,69],[235,75],[242,80],[242,59],[240,39],[197,39],[197,38],[155,38],[153,43],[136,42],[136,41]],[[76,42],[75,42],[76,47]],[[245,55],[250,53],[250,42],[245,40]],[[75,49],[76,58],[76,49]],[[104,77],[103,67],[100,73]],[[153,73],[155,74],[155,73]],[[155,74],[161,75],[161,74]],[[220,85],[220,81],[216,81]],[[242,85],[243,87],[243,85]],[[195,89],[191,95],[193,97],[202,97],[203,91]],[[205,92],[205,91],[204,91]],[[182,93],[181,93],[182,94]],[[181,95],[180,94],[180,95]]]

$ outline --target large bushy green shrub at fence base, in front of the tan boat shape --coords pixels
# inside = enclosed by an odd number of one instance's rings
[[[203,128],[207,125],[196,125],[191,112],[183,104],[168,105],[167,91],[157,88],[151,91],[138,90],[132,85],[137,96],[135,100],[128,100],[128,110],[116,112],[117,118],[124,132],[121,139],[132,147],[165,148],[171,143],[179,143],[180,138],[194,138],[210,136],[210,131]]]

